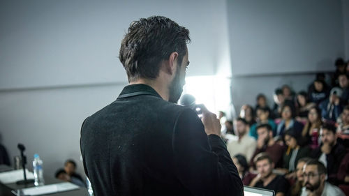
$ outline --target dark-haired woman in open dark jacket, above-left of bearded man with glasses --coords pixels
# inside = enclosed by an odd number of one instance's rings
[[[298,160],[310,156],[309,146],[299,145],[300,137],[302,134],[292,128],[285,132],[287,150],[283,154],[283,168],[288,169],[288,172],[295,172]]]

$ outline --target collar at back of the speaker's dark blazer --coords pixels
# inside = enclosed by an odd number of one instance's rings
[[[161,96],[153,88],[151,88],[151,86],[148,86],[147,84],[130,84],[124,87],[118,99],[140,95],[149,95],[161,98]]]

